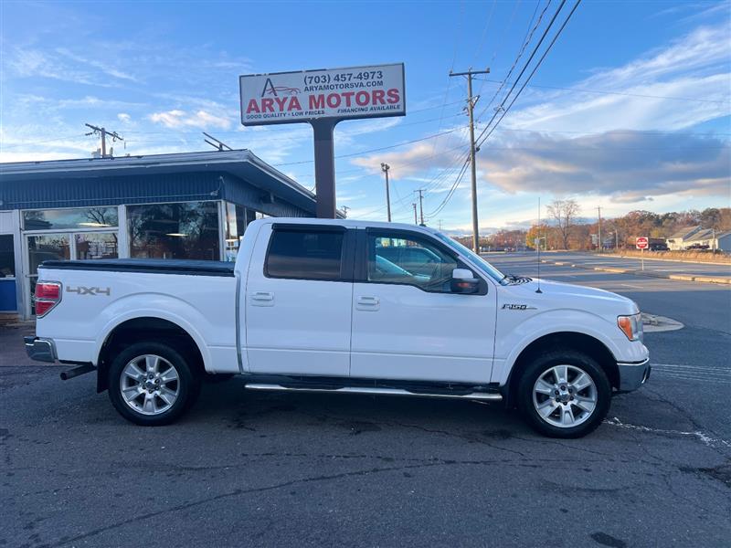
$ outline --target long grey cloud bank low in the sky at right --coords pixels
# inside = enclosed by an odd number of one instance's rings
[[[509,194],[605,195],[630,204],[658,195],[728,195],[731,145],[673,133],[574,138],[529,133],[482,153],[482,180]]]

